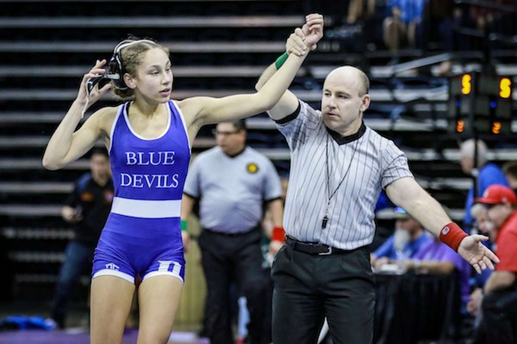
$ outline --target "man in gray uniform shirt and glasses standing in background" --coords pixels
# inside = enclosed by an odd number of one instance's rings
[[[200,200],[206,331],[212,344],[233,344],[229,294],[235,281],[247,299],[251,343],[268,343],[270,325],[263,324],[271,301],[265,300],[269,286],[262,269],[260,223],[265,202],[273,225],[282,225],[280,178],[267,157],[246,146],[244,120],[219,123],[215,134],[218,146],[200,154],[189,168],[181,207],[186,220],[194,200]]]

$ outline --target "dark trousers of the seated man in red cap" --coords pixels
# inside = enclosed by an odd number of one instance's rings
[[[476,343],[517,343],[517,286],[486,294]]]

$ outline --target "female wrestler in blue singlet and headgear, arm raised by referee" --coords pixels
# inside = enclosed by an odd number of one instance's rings
[[[322,21],[311,23],[307,46],[322,37]],[[92,343],[120,343],[138,274],[138,343],[166,343],[185,274],[180,234],[181,194],[190,147],[206,123],[252,116],[275,105],[302,61],[291,54],[258,92],[222,98],[170,100],[173,74],[169,52],[150,40],[126,40],[110,61],[112,82],[89,92],[90,79],[107,74],[105,60],[83,76],[77,99],[52,135],[43,166],[60,169],[105,138],[110,153],[115,197],[95,250],[91,288]],[[91,82],[90,82],[90,85]],[[100,96],[114,93],[130,100],[104,107],[74,132],[82,113]]]

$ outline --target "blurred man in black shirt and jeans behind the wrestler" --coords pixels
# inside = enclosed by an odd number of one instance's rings
[[[97,149],[90,157],[90,172],[79,178],[61,211],[63,219],[75,229],[74,239],[65,250],[52,306],[52,318],[61,329],[65,327],[70,289],[86,268],[91,269],[94,249],[112,201],[113,181],[108,153]]]

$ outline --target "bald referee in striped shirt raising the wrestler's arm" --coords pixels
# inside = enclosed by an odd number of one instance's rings
[[[321,26],[309,31],[315,23]],[[321,15],[308,15],[288,39],[287,53],[312,49],[322,26]],[[257,89],[282,60],[266,69]],[[325,79],[321,111],[286,91],[268,112],[291,150],[285,245],[271,270],[275,344],[315,343],[325,317],[336,343],[372,342],[375,298],[367,245],[374,237],[374,208],[382,189],[478,272],[493,269],[491,259],[498,262],[479,242],[488,238],[467,236],[451,222],[415,182],[405,154],[364,125],[368,92],[366,74],[340,67]]]

